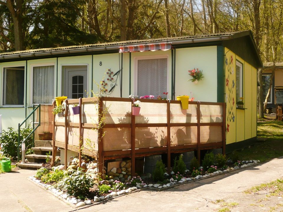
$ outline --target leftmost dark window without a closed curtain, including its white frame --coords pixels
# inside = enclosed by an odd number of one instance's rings
[[[24,67],[4,68],[3,105],[24,105]]]

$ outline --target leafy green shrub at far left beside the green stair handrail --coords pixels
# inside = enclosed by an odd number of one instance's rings
[[[20,141],[22,142],[29,133],[32,132],[32,128],[30,126],[23,127],[20,130],[21,137]],[[0,137],[0,143],[2,144],[2,151],[6,157],[17,159],[18,157],[18,130],[14,130],[13,127],[8,127],[8,130],[2,131],[2,136]],[[26,154],[31,153],[32,148],[32,135],[29,137],[28,140],[25,141],[26,143]],[[21,148],[21,147],[20,147]]]

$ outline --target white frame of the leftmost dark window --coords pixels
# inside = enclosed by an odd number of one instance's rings
[[[20,69],[20,68],[18,68],[18,67],[24,67],[23,69]],[[17,69],[17,70],[23,70],[24,71],[24,102],[23,102],[23,105],[6,105],[6,104],[4,104],[4,100],[5,100],[5,98],[6,98],[6,89],[5,89],[5,87],[6,87],[6,75],[5,75],[5,69],[9,69],[9,68],[11,68],[11,69]],[[26,97],[26,73],[25,73],[25,71],[26,71],[26,67],[25,67],[25,65],[14,65],[14,66],[2,66],[2,82],[3,82],[3,91],[1,92],[1,95],[3,95],[2,97],[1,97],[1,107],[24,107],[24,105],[25,105],[25,97]]]

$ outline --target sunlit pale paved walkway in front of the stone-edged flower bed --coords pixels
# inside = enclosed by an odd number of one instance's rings
[[[115,198],[105,204],[77,210],[57,199],[51,193],[31,182],[27,177],[35,171],[19,170],[0,175],[0,211],[217,211],[218,204],[212,201],[244,201],[242,191],[254,185],[283,177],[283,158],[250,168],[217,175],[213,178],[187,183],[175,188],[155,192],[140,191]],[[231,211],[250,211],[249,205]],[[260,208],[255,211],[264,211]]]

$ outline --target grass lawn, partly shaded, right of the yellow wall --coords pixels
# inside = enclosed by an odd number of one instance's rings
[[[260,160],[261,162],[283,156],[283,121],[266,116],[258,120],[257,137],[267,138],[258,141],[250,148],[238,151],[239,160]],[[229,154],[228,154],[229,156]]]

